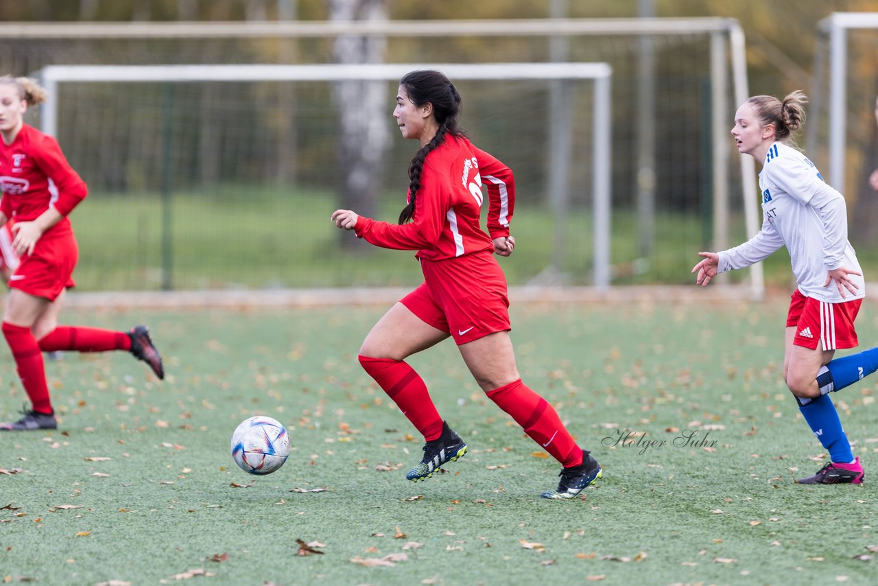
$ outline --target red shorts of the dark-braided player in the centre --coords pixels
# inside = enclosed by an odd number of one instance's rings
[[[512,329],[506,277],[492,254],[421,260],[424,282],[399,300],[457,345]]]

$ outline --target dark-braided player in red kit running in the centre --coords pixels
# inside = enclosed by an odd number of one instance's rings
[[[461,98],[438,71],[413,71],[399,82],[393,117],[421,148],[408,168],[407,206],[392,224],[336,210],[338,228],[376,246],[417,250],[424,282],[371,329],[360,364],[423,435],[424,457],[406,475],[429,478],[466,452],[443,421],[424,381],[405,359],[454,338],[479,387],[563,466],[557,489],[544,498],[573,498],[601,478],[601,467],[576,444],[555,409],[522,382],[509,338],[507,284],[494,254],[515,249],[509,221],[515,206],[512,171],[479,150],[457,125]],[[487,185],[487,235],[480,226]]]

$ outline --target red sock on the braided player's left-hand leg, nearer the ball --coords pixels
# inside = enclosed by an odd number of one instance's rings
[[[406,362],[390,358],[358,358],[363,370],[384,389],[424,439],[432,441],[442,435],[443,418],[430,399],[427,385],[421,375],[414,372],[414,368]]]

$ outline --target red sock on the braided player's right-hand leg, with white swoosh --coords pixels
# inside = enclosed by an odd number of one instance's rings
[[[488,391],[487,395],[565,468],[582,464],[582,450],[561,423],[558,411],[521,379]]]

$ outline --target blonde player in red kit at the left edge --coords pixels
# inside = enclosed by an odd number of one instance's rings
[[[83,179],[71,169],[53,137],[24,123],[28,105],[46,91],[27,77],[0,77],[0,227],[14,219],[12,249],[19,257],[10,275],[3,334],[18,377],[31,400],[17,422],[0,430],[55,429],[42,352],[130,351],[164,378],[162,357],[146,326],[128,332],[59,326],[64,292],[79,256],[68,213],[85,198]]]

